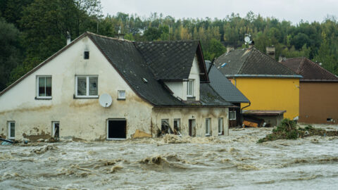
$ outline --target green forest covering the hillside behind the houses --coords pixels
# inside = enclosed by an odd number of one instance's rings
[[[177,19],[161,13],[103,15],[99,0],[2,0],[0,91],[65,46],[67,32],[73,40],[86,31],[108,37],[120,31],[132,41],[199,39],[206,60],[225,53],[226,46],[246,48],[245,34],[251,34],[260,51],[275,46],[276,60],[307,57],[338,75],[338,22],[332,15],[313,23],[252,11],[245,17]]]

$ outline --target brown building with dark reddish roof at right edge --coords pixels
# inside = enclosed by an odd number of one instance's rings
[[[338,77],[308,58],[288,58],[280,63],[303,76],[299,91],[299,122],[337,123]]]

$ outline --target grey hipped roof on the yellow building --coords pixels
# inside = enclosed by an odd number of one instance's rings
[[[222,68],[223,63],[226,65]],[[256,48],[224,53],[215,60],[215,66],[227,77],[300,77]]]

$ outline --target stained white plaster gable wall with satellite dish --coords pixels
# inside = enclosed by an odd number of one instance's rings
[[[90,52],[89,60],[84,60],[84,50]],[[52,76],[51,100],[35,99],[37,75]],[[99,95],[111,95],[112,105],[103,108],[99,99],[74,99],[75,75],[98,75]],[[117,100],[118,90],[125,90],[125,101]],[[136,129],[151,132],[152,106],[132,91],[88,37],[6,91],[0,105],[0,135],[8,135],[7,122],[13,120],[18,140],[49,138],[52,121],[60,122],[61,139],[104,140],[108,118],[127,120],[127,138]]]

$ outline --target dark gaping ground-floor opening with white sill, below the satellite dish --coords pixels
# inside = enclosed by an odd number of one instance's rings
[[[126,120],[108,120],[107,139],[126,139]]]

